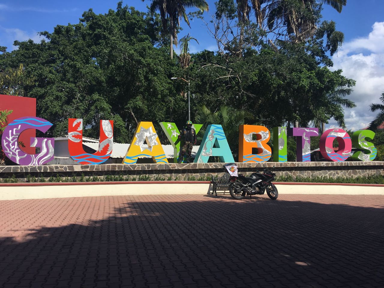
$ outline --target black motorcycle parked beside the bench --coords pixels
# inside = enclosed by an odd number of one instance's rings
[[[226,166],[236,166],[235,163],[228,163],[223,166],[223,169],[227,169]],[[275,166],[273,167],[275,168]],[[272,169],[273,169],[272,168]],[[231,176],[229,185],[229,194],[234,199],[243,199],[245,195],[262,195],[265,193],[272,200],[276,200],[279,193],[275,184],[272,183],[275,180],[276,174],[272,170],[266,168],[263,173],[255,172],[250,177],[245,177],[242,174],[238,174],[238,177]]]

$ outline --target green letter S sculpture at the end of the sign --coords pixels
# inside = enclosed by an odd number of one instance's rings
[[[373,143],[365,141],[365,138],[373,140],[375,132],[371,130],[358,130],[352,135],[352,144],[363,151],[354,152],[351,159],[355,161],[373,161],[377,155],[377,149]]]

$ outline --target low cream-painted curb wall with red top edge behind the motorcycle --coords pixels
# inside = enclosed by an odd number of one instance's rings
[[[161,185],[154,186],[153,184]],[[280,194],[384,195],[383,184],[296,182],[275,182],[275,184]],[[337,188],[325,187],[329,185],[336,185]],[[210,192],[212,192],[212,184],[209,181],[43,182],[0,184],[0,200],[118,195],[210,194]]]

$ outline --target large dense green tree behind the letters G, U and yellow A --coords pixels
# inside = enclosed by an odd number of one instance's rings
[[[83,118],[84,136],[98,138],[99,120],[111,119],[114,139],[129,143],[136,129],[131,111],[161,131],[171,106],[187,107],[170,80],[179,67],[157,46],[161,30],[159,15],[121,3],[106,14],[89,10],[79,23],[41,32],[47,41],[15,41],[18,49],[0,55],[0,68],[22,63],[25,76],[35,78],[23,89],[36,98],[37,114],[54,123],[47,136],[65,136],[68,118]],[[185,119],[178,113],[174,121]]]

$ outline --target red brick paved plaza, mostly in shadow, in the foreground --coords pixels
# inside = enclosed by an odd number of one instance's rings
[[[383,287],[384,196],[0,201],[0,287]]]

